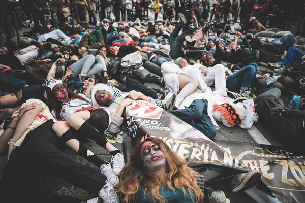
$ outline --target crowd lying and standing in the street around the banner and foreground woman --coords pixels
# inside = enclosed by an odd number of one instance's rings
[[[161,139],[133,146],[125,163],[106,136],[120,134],[126,107],[144,100],[210,139],[216,121],[249,129],[260,120],[285,143],[302,144],[305,38],[301,29],[285,27],[294,10],[302,27],[305,5],[287,2],[1,1],[0,153],[8,163],[0,201],[230,202],[198,184],[198,172]],[[14,21],[31,31],[15,37]],[[182,47],[204,53],[191,64]],[[95,155],[87,141],[111,160]],[[73,160],[65,147],[100,171]],[[46,172],[99,197],[39,191]],[[258,170],[238,174],[231,189],[245,190],[260,177]]]

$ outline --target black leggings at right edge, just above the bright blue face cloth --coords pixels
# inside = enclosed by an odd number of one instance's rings
[[[305,94],[305,90],[300,88],[300,84],[295,82],[289,77],[281,76],[278,78],[277,82],[269,84],[268,87],[277,87],[281,90],[283,96],[288,99],[292,99],[293,94],[290,91],[293,91],[298,94]]]

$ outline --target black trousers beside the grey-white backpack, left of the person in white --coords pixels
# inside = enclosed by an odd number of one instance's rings
[[[151,82],[149,80],[146,81],[146,79],[148,80],[150,77],[146,77],[145,81],[140,81],[134,73],[129,72],[126,75],[126,87],[140,90],[146,96],[157,98],[158,93],[154,89],[144,86],[144,82]]]

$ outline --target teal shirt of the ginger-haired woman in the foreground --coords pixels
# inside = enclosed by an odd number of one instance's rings
[[[139,203],[151,203],[149,200],[150,191],[147,190],[145,192],[145,187],[142,186],[139,193]],[[186,196],[184,195],[182,190],[175,189],[175,192],[173,190],[170,190],[167,186],[164,186],[163,188],[160,187],[159,193],[161,196],[165,197],[167,199],[168,203],[193,203],[194,200],[190,198],[190,195],[188,193],[188,190],[185,188]],[[192,198],[194,198],[193,193],[191,194]]]

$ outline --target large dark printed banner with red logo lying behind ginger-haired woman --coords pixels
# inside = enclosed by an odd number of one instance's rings
[[[126,134],[133,144],[152,136],[216,181],[240,172],[258,169],[263,182],[282,202],[305,199],[305,155],[295,149],[218,141],[217,144],[191,125],[146,101],[126,108]]]

